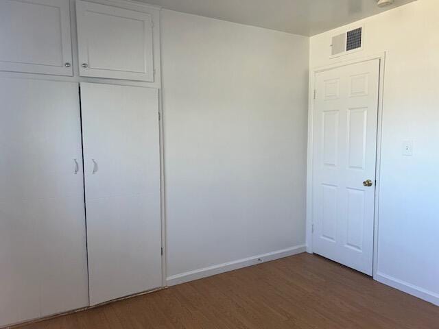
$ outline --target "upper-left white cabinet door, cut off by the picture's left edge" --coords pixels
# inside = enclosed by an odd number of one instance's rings
[[[69,0],[0,1],[0,71],[73,75]]]

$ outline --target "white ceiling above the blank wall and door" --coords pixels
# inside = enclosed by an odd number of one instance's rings
[[[416,0],[140,0],[165,9],[313,36]]]

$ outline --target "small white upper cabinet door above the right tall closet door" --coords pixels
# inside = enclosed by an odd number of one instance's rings
[[[76,1],[80,75],[154,81],[152,15]]]

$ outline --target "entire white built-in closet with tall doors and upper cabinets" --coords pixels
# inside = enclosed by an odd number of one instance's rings
[[[162,287],[158,15],[0,1],[0,328]]]

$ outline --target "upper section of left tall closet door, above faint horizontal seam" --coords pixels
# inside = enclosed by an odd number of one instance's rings
[[[0,199],[78,195],[84,185],[78,84],[1,79]],[[68,147],[66,147],[66,145]],[[75,162],[76,159],[76,162]]]

